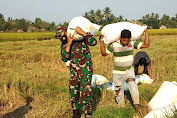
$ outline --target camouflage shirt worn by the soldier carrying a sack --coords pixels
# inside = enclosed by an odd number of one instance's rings
[[[70,52],[66,52],[66,44],[61,44],[61,57],[64,62],[71,61],[74,68],[85,68],[92,65],[91,54],[88,45],[95,46],[97,41],[94,37],[88,37],[86,41],[73,42]]]

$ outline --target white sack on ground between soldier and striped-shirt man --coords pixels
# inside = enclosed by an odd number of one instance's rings
[[[97,74],[92,75],[91,85],[93,87],[105,84],[107,82],[108,82],[107,78],[102,75],[97,75]]]

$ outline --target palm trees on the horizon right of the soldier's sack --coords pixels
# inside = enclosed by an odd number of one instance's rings
[[[84,17],[92,21],[93,23],[99,25],[107,25],[110,23],[116,23],[121,21],[129,21],[137,24],[146,24],[151,29],[159,29],[161,26],[165,26],[166,28],[177,28],[177,13],[175,17],[170,17],[164,14],[161,18],[158,14],[151,13],[143,16],[139,20],[128,20],[124,18],[122,15],[116,17],[112,14],[112,11],[109,7],[106,7],[103,10],[90,10],[89,12],[85,12],[83,14]]]

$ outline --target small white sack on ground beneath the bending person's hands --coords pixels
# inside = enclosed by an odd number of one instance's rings
[[[135,81],[137,84],[146,83],[151,84],[154,79],[151,79],[147,74],[135,75]]]

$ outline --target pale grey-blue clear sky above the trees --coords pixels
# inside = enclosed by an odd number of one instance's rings
[[[56,24],[69,22],[92,10],[109,7],[116,17],[122,15],[128,20],[138,20],[151,13],[174,17],[177,14],[177,0],[0,0],[0,13],[5,20],[25,18],[32,22],[41,18]]]

